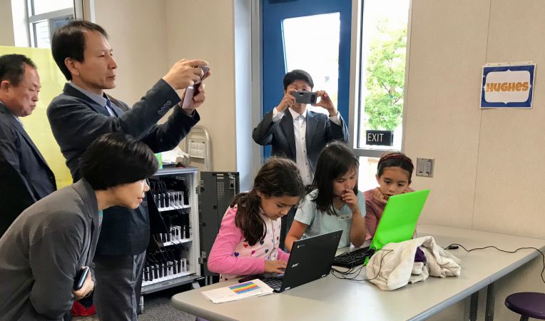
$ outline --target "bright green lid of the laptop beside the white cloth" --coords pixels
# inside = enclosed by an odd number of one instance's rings
[[[390,196],[370,247],[380,250],[387,243],[410,240],[428,194],[429,190],[417,190]]]

